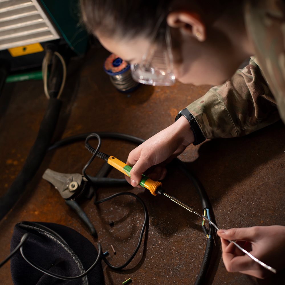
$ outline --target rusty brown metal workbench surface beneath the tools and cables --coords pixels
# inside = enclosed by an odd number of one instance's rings
[[[173,87],[141,86],[130,94],[119,93],[102,70],[108,53],[93,49],[83,60],[72,60],[63,94],[64,105],[54,141],[92,131],[122,132],[147,139],[173,122],[176,113],[203,95],[209,86],[177,83]],[[42,82],[7,84],[0,98],[0,195],[10,186],[36,137],[47,101]],[[220,228],[254,225],[285,225],[285,128],[279,122],[247,137],[206,141],[189,146],[180,156],[203,183]],[[103,140],[101,150],[125,161],[135,145]],[[91,239],[78,217],[58,192],[41,176],[46,168],[63,173],[81,173],[90,154],[84,142],[50,152],[27,192],[0,223],[0,260],[9,252],[13,226],[23,220],[68,225]],[[96,174],[102,162],[93,162],[88,172]],[[121,178],[115,170],[112,177]],[[183,174],[170,169],[165,188],[169,194],[201,211],[194,187]],[[194,284],[204,254],[206,238],[195,215],[161,196],[141,189],[100,188],[99,198],[130,190],[145,201],[150,215],[147,248],[121,272],[103,263],[106,284],[121,284],[131,277],[133,284]],[[142,209],[132,198],[121,197],[95,207],[83,204],[98,231],[104,250],[113,263],[121,264],[132,253],[143,219]],[[119,221],[109,227],[109,221]],[[285,284],[284,272],[256,280],[228,273],[221,260],[220,241],[215,250],[207,284]],[[0,270],[0,284],[12,284],[9,264]]]

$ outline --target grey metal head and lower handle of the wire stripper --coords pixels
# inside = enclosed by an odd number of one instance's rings
[[[90,199],[93,195],[93,190],[86,178],[79,173],[60,173],[49,168],[44,172],[42,178],[50,182],[56,190],[58,190],[66,204],[70,206],[87,225],[91,235],[97,237],[95,228],[76,202],[79,197],[85,196]]]

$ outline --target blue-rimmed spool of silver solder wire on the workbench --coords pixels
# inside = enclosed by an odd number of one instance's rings
[[[121,92],[131,92],[140,85],[133,80],[130,65],[115,54],[107,57],[103,68],[112,84]]]

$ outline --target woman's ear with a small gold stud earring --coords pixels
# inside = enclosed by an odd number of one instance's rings
[[[172,28],[179,28],[183,34],[194,36],[200,42],[206,39],[206,28],[196,13],[175,11],[167,16],[167,24]]]

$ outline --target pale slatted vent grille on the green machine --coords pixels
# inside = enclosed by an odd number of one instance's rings
[[[0,0],[0,50],[57,38],[36,0]]]

